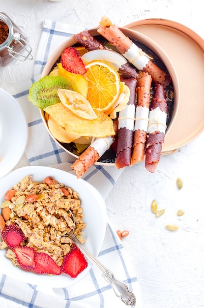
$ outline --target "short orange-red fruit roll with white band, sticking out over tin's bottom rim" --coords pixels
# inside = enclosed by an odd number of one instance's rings
[[[118,122],[113,122],[116,132],[114,136],[95,139],[91,145],[82,153],[79,158],[72,164],[71,168],[75,171],[77,179],[81,178],[86,171],[110,148],[117,136]]]

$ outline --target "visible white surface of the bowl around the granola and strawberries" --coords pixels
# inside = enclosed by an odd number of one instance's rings
[[[4,193],[8,189],[11,189],[14,184],[19,183],[27,175],[32,175],[32,180],[36,182],[43,181],[46,177],[51,177],[59,183],[70,186],[79,192],[81,206],[84,210],[83,213],[85,214],[84,222],[87,224],[83,233],[83,237],[87,239],[85,246],[94,256],[97,256],[103,244],[107,224],[106,205],[98,190],[86,181],[77,179],[75,175],[66,171],[51,167],[28,166],[17,169],[7,175],[1,184],[0,204],[4,200]],[[1,273],[27,283],[44,287],[59,288],[73,285],[81,280],[92,266],[92,263],[87,260],[87,268],[76,278],[71,278],[66,274],[61,274],[59,276],[35,274],[18,267],[14,267],[11,260],[5,257],[5,252],[5,249],[0,250]]]

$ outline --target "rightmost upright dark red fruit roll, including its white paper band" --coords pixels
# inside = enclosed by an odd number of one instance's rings
[[[162,143],[165,139],[168,105],[166,92],[161,85],[154,86],[154,94],[149,110],[149,123],[146,136],[145,167],[149,172],[156,170],[160,160]]]

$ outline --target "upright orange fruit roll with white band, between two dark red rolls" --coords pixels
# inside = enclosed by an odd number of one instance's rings
[[[140,71],[137,77],[137,104],[135,112],[134,141],[131,165],[145,157],[146,133],[149,121],[151,76]]]

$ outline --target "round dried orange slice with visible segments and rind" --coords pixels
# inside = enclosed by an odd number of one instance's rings
[[[120,77],[108,62],[94,60],[86,65],[87,100],[94,110],[110,109],[120,94]]]

